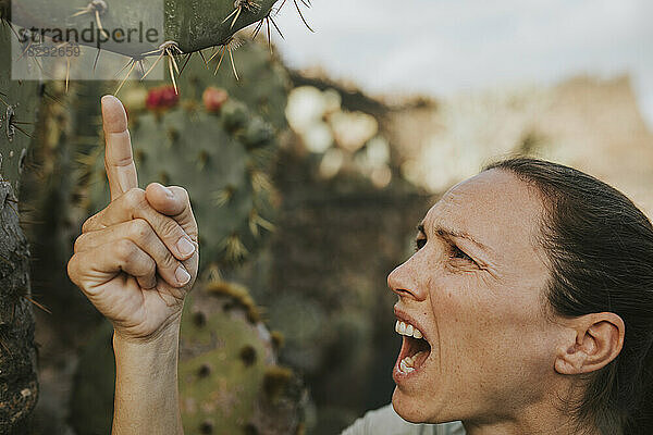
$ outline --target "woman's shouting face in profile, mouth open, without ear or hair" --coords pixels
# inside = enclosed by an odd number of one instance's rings
[[[427,213],[416,253],[387,277],[397,321],[419,330],[397,323],[414,336],[403,337],[393,370],[393,406],[404,419],[510,419],[552,399],[560,328],[544,309],[541,212],[534,189],[491,170]]]

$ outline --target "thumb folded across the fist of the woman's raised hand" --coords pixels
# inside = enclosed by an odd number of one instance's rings
[[[198,243],[197,222],[195,222],[190,198],[186,189],[178,186],[164,187],[159,183],[151,183],[145,189],[145,198],[159,213],[174,219],[190,239]]]

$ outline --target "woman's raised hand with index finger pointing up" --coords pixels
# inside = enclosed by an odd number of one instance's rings
[[[122,338],[150,340],[181,318],[197,276],[197,224],[183,188],[138,188],[116,98],[102,98],[102,121],[111,202],[84,223],[69,276]]]

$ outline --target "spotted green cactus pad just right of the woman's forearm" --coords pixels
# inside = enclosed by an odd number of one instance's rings
[[[180,394],[186,433],[298,433],[300,384],[289,369],[278,365],[279,338],[258,320],[248,291],[224,282],[199,290],[182,322]]]

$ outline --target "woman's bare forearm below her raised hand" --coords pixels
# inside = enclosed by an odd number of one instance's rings
[[[113,335],[113,435],[183,435],[178,407],[178,322],[148,343]]]

